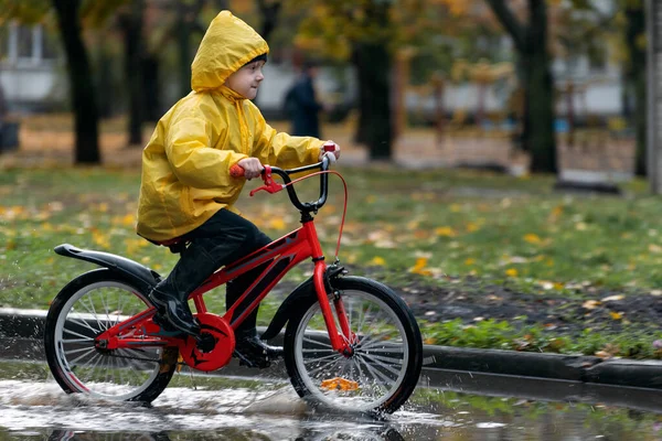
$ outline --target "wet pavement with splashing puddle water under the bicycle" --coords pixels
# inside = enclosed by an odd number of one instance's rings
[[[658,440],[659,391],[447,372],[384,420],[309,408],[288,381],[177,375],[143,407],[65,395],[0,362],[0,440]],[[445,386],[426,387],[444,381]]]

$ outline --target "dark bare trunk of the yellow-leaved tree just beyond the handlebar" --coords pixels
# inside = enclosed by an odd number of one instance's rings
[[[359,127],[356,142],[364,143],[371,159],[391,159],[391,55],[384,44],[357,43],[354,64],[359,76]]]

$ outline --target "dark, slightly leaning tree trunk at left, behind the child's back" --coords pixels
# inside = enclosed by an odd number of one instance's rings
[[[53,0],[67,60],[76,130],[75,163],[98,164],[98,109],[87,51],[81,36],[79,6],[79,0]]]

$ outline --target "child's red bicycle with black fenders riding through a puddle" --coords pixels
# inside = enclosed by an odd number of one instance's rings
[[[151,402],[180,363],[203,372],[224,367],[234,352],[234,330],[292,267],[311,259],[313,276],[284,300],[261,338],[274,338],[285,327],[285,365],[299,396],[335,409],[397,410],[418,383],[420,331],[406,303],[389,288],[346,276],[338,261],[324,262],[313,214],[327,202],[329,173],[338,174],[328,170],[329,163],[324,157],[292,170],[265,166],[265,184],[250,195],[287,190],[302,225],[220,269],[191,293],[202,330],[199,338],[169,333],[154,322],[156,309],[147,293],[161,280],[156,271],[117,255],[57,246],[61,256],[102,267],[68,282],[49,310],[45,353],[60,386],[66,392]],[[320,196],[303,203],[293,186],[300,179],[292,181],[290,175],[314,170],[311,175],[320,175]],[[163,245],[175,251],[185,246]],[[224,315],[207,311],[206,292],[263,263],[267,266],[260,277]]]

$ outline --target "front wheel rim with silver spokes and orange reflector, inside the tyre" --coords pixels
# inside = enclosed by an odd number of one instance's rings
[[[316,303],[297,330],[297,370],[306,389],[322,404],[343,410],[380,409],[407,373],[405,330],[395,312],[370,293],[348,290],[342,300],[350,329],[357,336],[354,355],[348,358],[333,351]],[[337,318],[335,325],[340,330]]]

